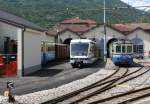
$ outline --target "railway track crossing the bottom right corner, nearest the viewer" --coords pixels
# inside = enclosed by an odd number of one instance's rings
[[[150,96],[150,86],[101,99],[90,104],[129,104],[148,96]]]

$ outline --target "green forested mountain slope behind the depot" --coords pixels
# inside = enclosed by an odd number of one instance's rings
[[[106,8],[127,7],[120,0],[106,0]],[[66,19],[80,17],[103,23],[103,0],[0,0],[0,9],[26,18],[38,25],[51,27]],[[106,22],[150,22],[150,14],[140,10],[106,11]]]

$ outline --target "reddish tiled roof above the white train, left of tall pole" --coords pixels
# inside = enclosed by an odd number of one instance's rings
[[[96,21],[93,20],[82,20],[79,18],[71,18],[71,19],[66,19],[56,26],[53,27],[53,29],[50,29],[51,34],[57,34],[57,33],[62,33],[66,30],[74,32],[78,35],[81,35],[85,33],[86,31],[89,31],[93,27],[96,27]]]

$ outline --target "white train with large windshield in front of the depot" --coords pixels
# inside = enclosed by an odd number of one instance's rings
[[[74,39],[70,43],[70,64],[72,67],[82,67],[92,64],[99,58],[99,49],[90,39]]]

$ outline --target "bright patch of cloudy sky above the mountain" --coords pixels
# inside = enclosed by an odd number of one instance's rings
[[[121,0],[133,7],[137,7],[137,6],[150,6],[150,0]],[[138,9],[144,9],[144,10],[150,10],[150,7],[148,8],[138,8]]]

